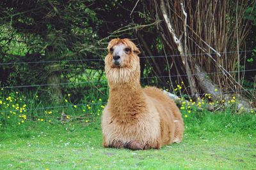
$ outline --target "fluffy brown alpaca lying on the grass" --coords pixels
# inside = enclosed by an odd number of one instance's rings
[[[183,120],[176,104],[155,87],[141,88],[140,50],[129,39],[112,39],[105,58],[109,102],[102,115],[103,146],[159,149],[180,143]]]

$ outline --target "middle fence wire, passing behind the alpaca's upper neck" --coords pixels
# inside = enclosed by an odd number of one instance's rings
[[[256,71],[256,69],[245,69],[245,70],[237,70],[237,71],[220,71],[220,72],[212,72],[212,73],[197,73],[197,74],[176,74],[176,75],[168,75],[168,76],[150,76],[141,78],[144,79],[153,79],[153,78],[171,78],[177,76],[196,76],[200,74],[221,74],[221,73],[239,73],[239,72],[247,72],[247,71]],[[10,87],[0,87],[0,89],[15,89],[15,88],[25,88],[25,87],[45,87],[51,85],[72,85],[72,84],[84,84],[84,83],[99,83],[99,82],[107,82],[107,80],[99,80],[99,81],[78,81],[78,82],[67,82],[67,83],[48,83],[48,84],[40,84],[40,85],[19,85],[19,86],[10,86]]]

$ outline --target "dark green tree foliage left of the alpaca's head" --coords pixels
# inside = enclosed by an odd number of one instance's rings
[[[51,74],[62,75],[61,81],[67,82],[85,68],[102,68],[102,62],[65,61],[102,57],[94,48],[97,33],[89,25],[100,22],[84,1],[1,1],[0,5],[1,62],[29,62],[1,67],[2,86],[44,84]],[[62,61],[44,62],[49,60]]]

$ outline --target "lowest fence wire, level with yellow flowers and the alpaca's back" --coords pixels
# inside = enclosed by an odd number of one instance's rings
[[[232,93],[236,93],[236,92],[248,92],[248,91],[255,91],[256,89],[248,89],[248,90],[236,90],[234,91],[229,91],[229,92],[222,92],[220,95],[222,94],[232,94]],[[177,97],[191,97],[191,96],[203,96],[205,95],[205,93],[203,94],[194,94],[194,95],[180,95]],[[36,110],[51,110],[51,109],[56,109],[56,108],[68,108],[68,107],[74,107],[74,106],[87,106],[87,105],[99,105],[99,104],[107,104],[106,102],[102,102],[102,103],[84,103],[84,104],[69,104],[69,105],[63,105],[63,106],[51,106],[51,107],[45,107],[45,108],[31,108],[31,109],[26,109],[26,111],[36,111]],[[1,112],[10,112],[13,110],[0,110]],[[17,110],[19,111],[19,110]]]

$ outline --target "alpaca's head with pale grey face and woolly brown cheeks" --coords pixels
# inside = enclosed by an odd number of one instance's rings
[[[140,80],[140,50],[129,39],[112,39],[108,44],[105,71],[113,83]]]

